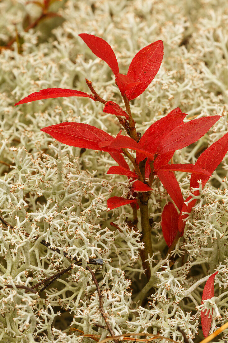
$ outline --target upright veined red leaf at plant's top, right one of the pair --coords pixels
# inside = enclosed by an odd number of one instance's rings
[[[130,63],[127,76],[141,84],[126,91],[129,100],[142,94],[152,82],[161,66],[163,54],[162,40],[157,40],[137,52]]]

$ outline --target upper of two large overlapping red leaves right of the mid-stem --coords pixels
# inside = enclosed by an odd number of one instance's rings
[[[150,153],[155,153],[157,147],[164,137],[168,135],[173,129],[176,129],[187,114],[182,113],[179,107],[173,109],[165,117],[155,121],[145,133],[142,135],[139,143],[144,150],[150,151]],[[137,154],[137,162],[142,161],[144,156],[142,154]]]

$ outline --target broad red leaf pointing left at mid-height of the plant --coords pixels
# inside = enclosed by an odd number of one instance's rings
[[[57,125],[47,126],[41,131],[50,134],[57,141],[80,148],[119,152],[118,149],[101,148],[100,142],[111,141],[110,134],[105,131],[84,123],[60,123]]]

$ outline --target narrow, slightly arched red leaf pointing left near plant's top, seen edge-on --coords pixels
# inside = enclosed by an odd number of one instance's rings
[[[83,97],[87,97],[94,100],[94,96],[92,94],[75,91],[73,89],[46,88],[46,89],[42,89],[39,92],[29,94],[24,99],[18,101],[14,106],[25,104],[25,103],[30,103],[31,101],[36,101],[36,100],[61,98],[61,97],[66,97],[66,96],[83,96]]]

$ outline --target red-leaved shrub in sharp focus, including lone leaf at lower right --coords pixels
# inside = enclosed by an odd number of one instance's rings
[[[85,123],[63,122],[41,129],[63,144],[86,149],[108,152],[117,165],[107,170],[107,174],[125,175],[128,177],[130,190],[127,198],[113,196],[107,200],[107,207],[113,210],[130,204],[137,226],[137,212],[140,212],[141,234],[144,249],[141,251],[142,265],[147,279],[150,279],[149,259],[153,255],[151,229],[153,222],[149,217],[148,202],[154,189],[154,178],[159,178],[173,202],[168,202],[162,212],[162,233],[168,246],[168,253],[174,250],[176,243],[184,234],[186,218],[194,207],[199,190],[195,190],[184,199],[174,171],[191,173],[190,187],[197,188],[201,180],[202,188],[215,168],[222,161],[228,150],[228,133],[209,146],[195,164],[169,163],[174,153],[200,139],[219,120],[220,116],[207,116],[194,120],[185,120],[187,114],[179,107],[165,117],[154,122],[141,136],[136,122],[131,115],[130,101],[140,96],[153,81],[163,59],[163,42],[157,40],[142,48],[132,59],[126,75],[119,73],[116,56],[111,46],[100,37],[89,34],[79,35],[92,52],[105,61],[115,75],[115,83],[123,97],[125,109],[117,103],[101,98],[94,90],[91,81],[86,83],[91,94],[81,91],[47,88],[32,93],[15,105],[35,100],[56,97],[88,97],[104,105],[103,111],[115,115],[121,123],[122,130],[112,137],[107,132]],[[132,154],[132,151],[135,153]],[[214,296],[214,278],[208,279],[203,293],[203,300]],[[211,327],[211,317],[201,312],[203,334],[206,337]]]

